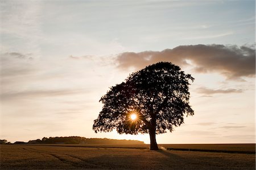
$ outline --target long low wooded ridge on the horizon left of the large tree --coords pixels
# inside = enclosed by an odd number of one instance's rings
[[[28,144],[144,144],[139,140],[118,140],[108,138],[84,138],[80,136],[44,137],[42,140],[30,140]]]

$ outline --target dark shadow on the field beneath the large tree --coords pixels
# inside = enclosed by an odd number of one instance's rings
[[[94,169],[170,169],[170,165],[179,169],[179,163],[182,160],[182,157],[172,154],[169,151],[150,150],[113,154],[104,153],[104,155],[96,155],[84,159],[85,162],[94,164]],[[175,165],[175,163],[178,164]]]

